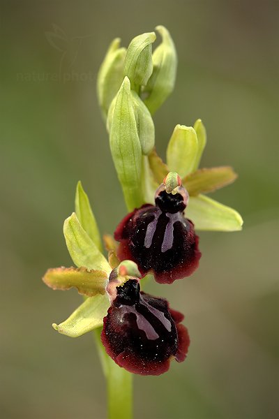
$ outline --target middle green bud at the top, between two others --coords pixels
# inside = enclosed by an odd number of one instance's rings
[[[140,86],[144,86],[153,70],[151,44],[156,40],[156,34],[149,32],[138,35],[132,39],[128,46],[124,75],[130,79],[131,87],[135,91],[140,91]]]

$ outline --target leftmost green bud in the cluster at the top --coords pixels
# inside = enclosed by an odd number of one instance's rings
[[[104,119],[106,119],[110,103],[123,81],[126,48],[119,48],[120,41],[120,38],[116,38],[110,44],[97,76],[98,101]]]

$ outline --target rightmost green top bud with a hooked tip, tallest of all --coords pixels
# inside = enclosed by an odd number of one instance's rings
[[[176,49],[169,31],[163,26],[156,27],[156,30],[162,37],[162,43],[153,52],[153,73],[143,89],[144,94],[148,95],[144,103],[151,114],[156,112],[172,93],[177,68]]]

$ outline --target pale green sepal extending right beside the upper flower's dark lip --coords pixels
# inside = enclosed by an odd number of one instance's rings
[[[243,224],[236,210],[204,195],[190,197],[185,216],[197,230],[238,231]]]

